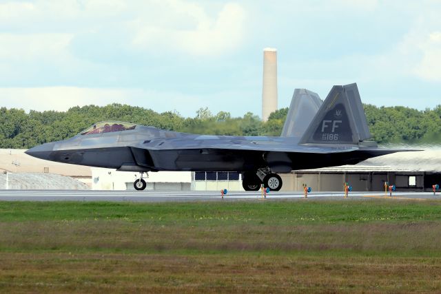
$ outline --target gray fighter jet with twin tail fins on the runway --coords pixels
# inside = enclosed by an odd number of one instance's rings
[[[207,136],[132,123],[96,123],[80,134],[26,151],[74,165],[136,171],[137,190],[148,171],[238,171],[243,188],[282,187],[278,174],[295,169],[353,165],[402,150],[378,148],[371,138],[355,83],[334,86],[322,103],[305,89],[294,92],[283,133],[267,136]]]

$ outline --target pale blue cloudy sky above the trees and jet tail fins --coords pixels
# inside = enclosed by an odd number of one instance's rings
[[[0,107],[260,116],[267,47],[278,107],[348,83],[364,103],[435,107],[440,15],[431,0],[0,0]]]

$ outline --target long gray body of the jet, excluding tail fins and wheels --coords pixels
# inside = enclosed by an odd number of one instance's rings
[[[270,167],[278,173],[355,164],[378,156],[353,146],[300,146],[298,140],[185,134],[136,125],[110,132],[83,132],[26,153],[45,160],[121,171],[244,172]]]

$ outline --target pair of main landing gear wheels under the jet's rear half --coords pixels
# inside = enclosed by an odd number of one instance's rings
[[[256,173],[247,171],[242,176],[242,187],[245,191],[258,191],[262,184],[270,191],[279,191],[283,182],[282,178],[278,174],[273,174],[269,167],[258,169]]]

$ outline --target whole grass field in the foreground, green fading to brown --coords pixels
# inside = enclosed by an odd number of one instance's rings
[[[441,291],[441,201],[0,202],[0,292]]]

